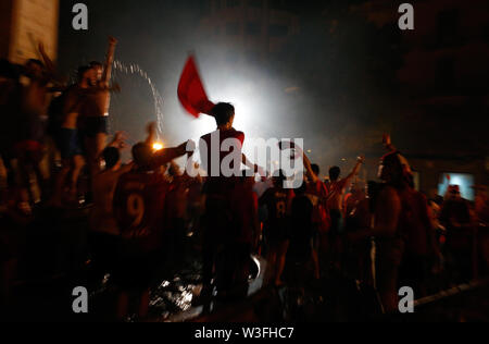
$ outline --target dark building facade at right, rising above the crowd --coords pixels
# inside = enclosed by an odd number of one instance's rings
[[[354,10],[383,27],[397,25],[398,5],[372,0]],[[442,192],[449,174],[464,184],[487,185],[489,3],[426,0],[413,5],[415,28],[398,42],[403,54],[398,81],[409,99],[400,127],[411,135],[403,150],[426,193]]]

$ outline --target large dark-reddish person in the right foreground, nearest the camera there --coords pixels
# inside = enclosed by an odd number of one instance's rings
[[[381,159],[379,177],[384,183],[375,200],[373,223],[367,230],[349,234],[352,241],[375,236],[376,285],[387,312],[398,310],[401,286],[413,287],[417,297],[422,296],[428,258],[439,254],[427,200],[411,187],[409,170],[398,151]]]

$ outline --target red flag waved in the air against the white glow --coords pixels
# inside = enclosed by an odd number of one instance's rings
[[[195,118],[211,114],[214,103],[209,100],[197,69],[196,60],[189,57],[178,84],[178,99],[185,110]]]

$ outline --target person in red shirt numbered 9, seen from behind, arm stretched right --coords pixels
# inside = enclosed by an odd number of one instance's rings
[[[146,143],[133,147],[135,167],[120,176],[114,194],[114,214],[121,230],[121,248],[114,280],[122,287],[118,318],[128,309],[129,293],[136,293],[138,315],[149,307],[149,286],[163,247],[165,198],[168,184],[158,172],[161,165],[186,153],[187,144],[153,153]]]

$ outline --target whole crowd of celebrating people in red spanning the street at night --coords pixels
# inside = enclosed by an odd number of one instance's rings
[[[154,149],[155,124],[148,125],[145,142],[131,147],[131,161],[123,162],[124,134],[115,133],[108,143],[110,94],[118,90],[111,85],[115,47],[110,38],[105,62],[80,66],[71,86],[63,84],[42,45],[42,61],[22,66],[0,61],[2,309],[13,306],[18,261],[29,255],[16,229],[36,223],[47,209],[53,217],[86,211],[86,261],[95,281],[110,274],[118,287],[117,319],[148,315],[150,286],[162,269],[181,269],[190,236],[201,251],[203,287],[196,303],[202,305],[215,297],[248,296],[252,254],[267,262],[265,285],[304,287],[341,274],[372,287],[385,312],[397,311],[400,286],[426,296],[440,287],[434,278],[468,281],[474,260],[489,262],[487,239],[476,235],[489,223],[486,188],[476,187],[474,204],[461,197],[456,185],[428,200],[414,188],[410,164],[388,136],[381,182],[365,187],[358,177],[363,157],[346,176],[331,168],[325,182],[319,167],[291,143],[306,172],[297,189],[285,188],[281,170],[266,173],[241,151],[240,175],[214,176],[209,161],[224,157],[211,144],[201,168],[212,176],[192,176],[174,162],[184,156],[193,161],[189,144]],[[244,133],[233,126],[234,107],[218,103],[212,115],[221,142],[234,138],[242,147]],[[202,140],[210,143],[211,134]],[[134,297],[136,310],[129,309]]]

